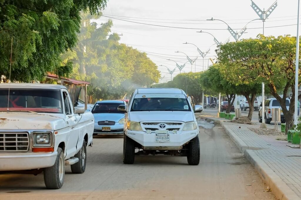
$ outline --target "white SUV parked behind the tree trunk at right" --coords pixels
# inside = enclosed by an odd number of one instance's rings
[[[290,99],[286,98],[286,109],[289,110],[290,107]],[[265,100],[265,104],[264,104],[265,108],[265,124],[270,124],[272,121],[272,109],[273,108],[280,108],[280,117],[281,117],[281,123],[285,123],[285,118],[282,112],[282,108],[280,106],[280,103],[278,102],[278,100],[276,98],[271,98],[271,99],[267,99]],[[259,117],[259,122],[262,122],[262,109],[259,109],[258,112],[258,117]]]

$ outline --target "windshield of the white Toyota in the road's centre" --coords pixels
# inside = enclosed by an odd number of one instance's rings
[[[191,111],[186,98],[135,98],[132,111]]]

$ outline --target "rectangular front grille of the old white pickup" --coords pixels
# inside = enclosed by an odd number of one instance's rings
[[[0,151],[28,151],[28,133],[0,133]]]

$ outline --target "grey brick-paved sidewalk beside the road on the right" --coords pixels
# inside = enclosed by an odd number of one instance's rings
[[[213,116],[207,117],[224,121],[223,127],[228,130],[232,136],[241,139],[250,149],[258,148],[259,150],[253,150],[256,155],[260,157],[301,199],[300,148],[291,148],[287,146],[287,144],[291,143],[276,140],[277,136],[258,135],[248,128],[258,128],[258,124],[236,124],[222,118]]]

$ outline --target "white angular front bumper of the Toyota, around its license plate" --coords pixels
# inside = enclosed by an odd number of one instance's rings
[[[143,131],[126,130],[125,134],[142,145],[144,150],[180,150],[182,146],[195,138],[199,130],[169,132],[169,142],[155,142],[156,133],[145,133]]]

